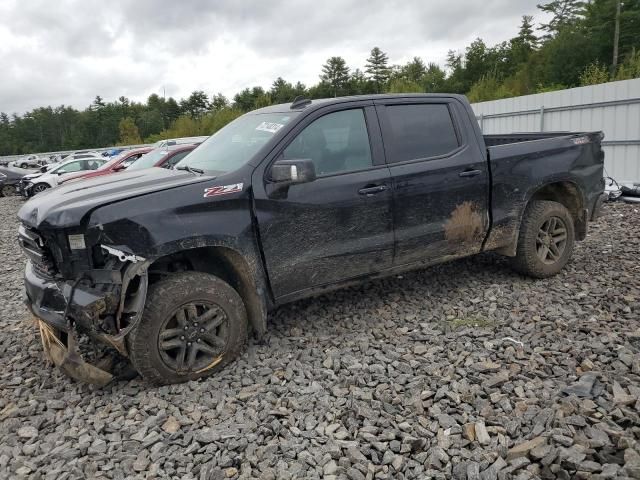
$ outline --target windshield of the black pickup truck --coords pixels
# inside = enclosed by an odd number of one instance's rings
[[[298,112],[243,115],[218,130],[175,168],[189,166],[220,175],[237,170]]]

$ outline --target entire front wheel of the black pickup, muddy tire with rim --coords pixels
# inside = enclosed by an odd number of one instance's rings
[[[220,370],[239,355],[246,339],[240,295],[213,275],[185,272],[149,287],[144,313],[127,345],[143,378],[170,384]]]

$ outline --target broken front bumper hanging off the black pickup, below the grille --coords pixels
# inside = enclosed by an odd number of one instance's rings
[[[122,259],[119,268],[84,272],[75,281],[42,276],[31,261],[25,269],[25,303],[39,319],[49,358],[70,377],[105,385],[106,365],[90,365],[78,349],[78,334],[128,356],[125,337],[142,316],[149,262]],[[135,280],[135,281],[134,281]]]

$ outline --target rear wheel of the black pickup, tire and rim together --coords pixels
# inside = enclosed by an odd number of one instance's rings
[[[558,202],[533,201],[522,219],[513,265],[531,277],[550,277],[569,262],[574,242],[573,218],[567,208]]]

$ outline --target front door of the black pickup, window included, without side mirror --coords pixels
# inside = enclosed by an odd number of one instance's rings
[[[254,172],[255,211],[274,295],[322,288],[392,265],[389,168],[373,103],[316,111]],[[311,159],[317,178],[278,189],[269,165]]]

